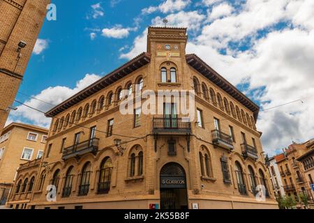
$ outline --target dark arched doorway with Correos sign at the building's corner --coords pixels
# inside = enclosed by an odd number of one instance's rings
[[[160,208],[188,208],[186,172],[175,162],[165,164],[160,170]]]

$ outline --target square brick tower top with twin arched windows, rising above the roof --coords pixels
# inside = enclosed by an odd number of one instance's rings
[[[149,27],[147,52],[151,54],[150,74],[154,75],[156,90],[174,87],[177,90],[190,89],[188,86],[188,67],[186,64],[186,28]],[[177,74],[171,76],[171,70]],[[164,77],[161,77],[166,70]],[[160,76],[161,75],[161,76]]]

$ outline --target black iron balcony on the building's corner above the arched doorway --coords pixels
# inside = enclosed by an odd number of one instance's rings
[[[190,134],[190,122],[184,118],[153,118],[154,133]]]

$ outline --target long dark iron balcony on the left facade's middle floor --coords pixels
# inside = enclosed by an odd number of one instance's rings
[[[80,157],[87,153],[96,153],[98,151],[98,141],[99,139],[97,138],[89,139],[80,144],[74,144],[73,146],[64,148],[62,160],[68,160],[72,157]]]

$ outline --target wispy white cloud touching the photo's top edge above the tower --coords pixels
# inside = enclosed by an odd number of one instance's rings
[[[190,0],[166,0],[160,3],[159,6],[149,6],[142,9],[142,14],[151,14],[159,10],[161,13],[174,13],[175,11],[183,10],[188,6]]]

